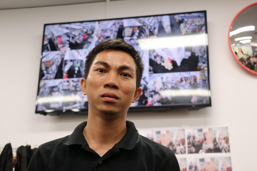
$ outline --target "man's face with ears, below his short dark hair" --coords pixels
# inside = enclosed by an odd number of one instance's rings
[[[126,114],[142,92],[141,88],[136,88],[136,70],[134,59],[126,52],[106,50],[98,53],[87,79],[81,80],[89,112]]]

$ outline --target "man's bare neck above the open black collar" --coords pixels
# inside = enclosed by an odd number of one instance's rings
[[[87,125],[83,131],[89,147],[95,150],[99,156],[103,156],[127,132],[126,117],[114,120],[105,120],[103,118],[89,114]]]

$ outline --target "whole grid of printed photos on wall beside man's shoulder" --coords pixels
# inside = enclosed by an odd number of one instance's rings
[[[232,171],[227,126],[138,129],[174,151],[181,171]]]

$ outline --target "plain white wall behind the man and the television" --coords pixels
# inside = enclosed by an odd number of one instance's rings
[[[35,114],[44,23],[86,21],[207,10],[212,107],[129,113],[137,128],[228,125],[233,171],[256,169],[257,76],[230,53],[228,30],[234,16],[255,0],[124,0],[0,10],[0,147],[32,148],[66,136],[86,116]]]

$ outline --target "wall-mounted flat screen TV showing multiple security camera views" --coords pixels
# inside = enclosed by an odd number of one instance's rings
[[[35,113],[86,114],[85,59],[99,42],[122,38],[143,59],[143,92],[129,111],[211,106],[206,11],[44,24]]]

